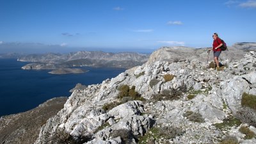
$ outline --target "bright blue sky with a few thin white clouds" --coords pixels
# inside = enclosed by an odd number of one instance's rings
[[[0,0],[0,46],[211,47],[215,32],[233,45],[256,42],[255,18],[256,0]]]

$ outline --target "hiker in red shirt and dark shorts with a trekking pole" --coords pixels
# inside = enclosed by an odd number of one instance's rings
[[[219,56],[220,56],[220,53],[221,53],[220,47],[223,44],[221,42],[221,39],[218,37],[218,33],[214,33],[212,35],[212,38],[213,38],[212,49],[208,49],[208,52],[210,52],[211,50],[213,51],[214,61],[216,63],[217,70],[218,70],[220,68],[220,65],[219,65]]]

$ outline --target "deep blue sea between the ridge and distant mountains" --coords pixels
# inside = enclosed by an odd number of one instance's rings
[[[125,68],[81,67],[83,74],[48,74],[50,70],[22,70],[28,62],[0,58],[0,116],[33,109],[53,97],[68,97],[77,83],[102,83],[125,71]]]

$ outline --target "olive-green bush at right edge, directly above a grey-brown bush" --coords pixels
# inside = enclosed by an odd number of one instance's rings
[[[248,93],[243,93],[241,105],[243,107],[249,107],[256,110],[256,95],[249,95]]]

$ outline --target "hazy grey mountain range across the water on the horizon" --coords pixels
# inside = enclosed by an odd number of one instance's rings
[[[28,54],[20,56],[18,61],[31,61],[22,67],[23,69],[56,69],[63,67],[120,67],[131,68],[145,63],[148,54],[136,52],[102,52],[102,51],[78,51],[68,54]]]

